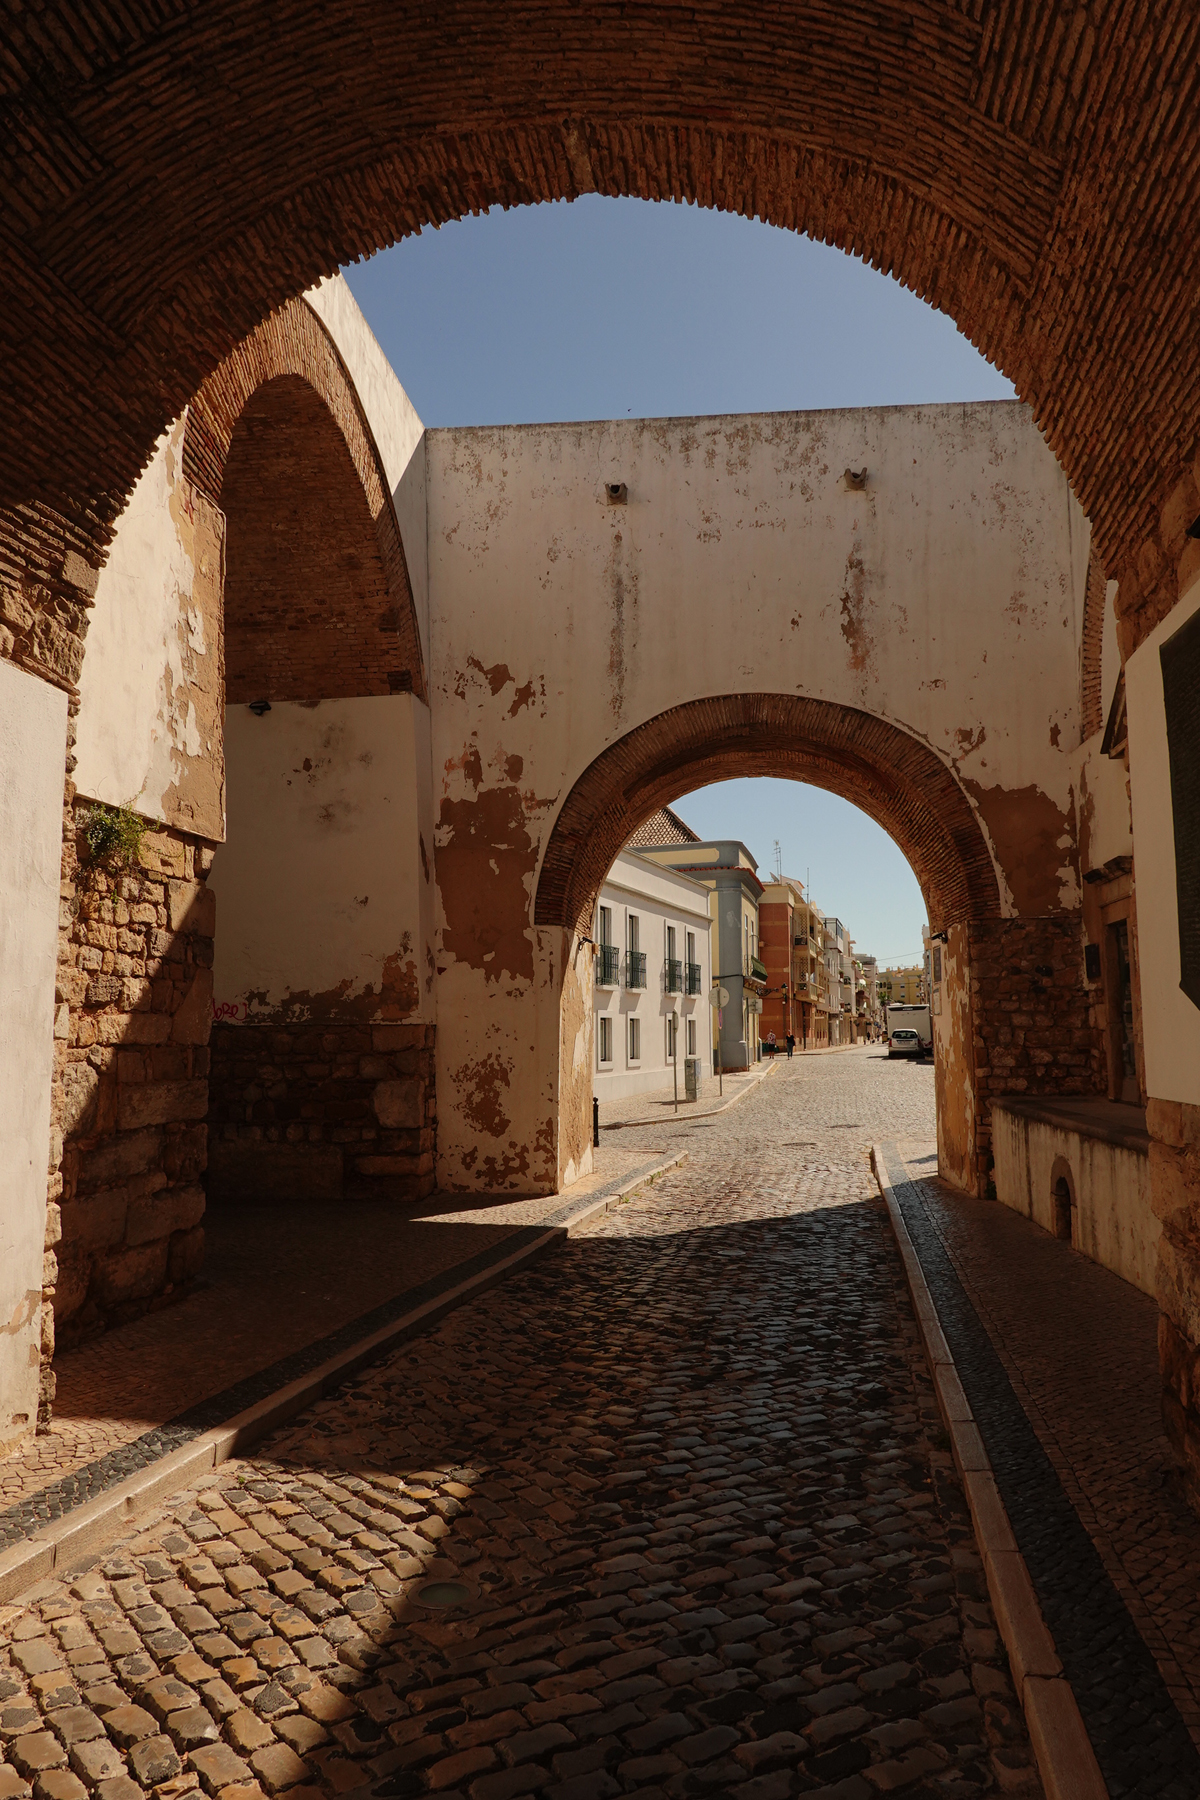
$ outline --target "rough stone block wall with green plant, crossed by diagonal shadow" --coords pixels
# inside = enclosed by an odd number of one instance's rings
[[[137,866],[88,864],[68,796],[56,992],[43,1411],[54,1343],[178,1296],[203,1258],[212,1026],[210,850],[142,839]]]

